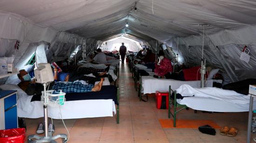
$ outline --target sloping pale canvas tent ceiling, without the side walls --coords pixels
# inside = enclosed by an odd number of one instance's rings
[[[0,0],[3,12],[85,38],[116,37],[128,22],[134,37],[162,42],[198,35],[202,23],[208,34],[256,25],[255,7],[255,0]]]

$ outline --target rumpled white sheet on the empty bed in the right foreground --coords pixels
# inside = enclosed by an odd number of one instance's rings
[[[195,110],[216,112],[249,111],[250,97],[236,91],[215,87],[192,88],[184,84],[177,89],[177,93],[180,93],[182,96],[189,96],[177,99],[179,104],[185,104]],[[256,109],[256,101],[254,101],[254,109]]]

